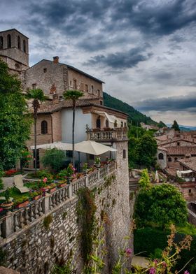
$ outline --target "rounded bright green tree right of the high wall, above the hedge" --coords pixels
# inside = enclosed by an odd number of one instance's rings
[[[186,201],[179,189],[169,184],[141,189],[135,203],[134,217],[137,226],[154,224],[185,224],[188,217]]]

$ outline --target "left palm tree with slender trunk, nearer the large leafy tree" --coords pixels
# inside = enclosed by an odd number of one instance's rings
[[[43,93],[42,89],[30,89],[27,92],[27,99],[33,99],[32,106],[34,108],[34,163],[35,163],[35,173],[37,165],[37,154],[36,154],[36,122],[37,122],[37,113],[38,108],[40,108],[40,103],[45,101],[47,97]]]

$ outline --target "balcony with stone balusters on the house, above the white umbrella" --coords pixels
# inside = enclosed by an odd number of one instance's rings
[[[116,129],[87,129],[87,140],[96,142],[118,142],[127,139],[127,128]]]

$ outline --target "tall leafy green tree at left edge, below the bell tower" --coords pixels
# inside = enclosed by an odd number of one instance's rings
[[[21,82],[0,60],[0,166],[8,170],[20,159],[30,135],[30,117]]]

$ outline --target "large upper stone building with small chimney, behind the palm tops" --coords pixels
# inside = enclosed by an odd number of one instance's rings
[[[26,89],[41,88],[51,98],[53,94],[62,96],[68,89],[78,89],[83,92],[84,99],[91,99],[102,105],[103,83],[73,66],[59,63],[57,56],[53,57],[53,61],[43,59],[25,71]]]

